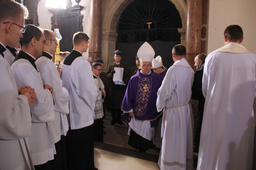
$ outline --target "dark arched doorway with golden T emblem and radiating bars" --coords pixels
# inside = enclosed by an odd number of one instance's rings
[[[129,67],[135,64],[140,46],[149,42],[155,50],[155,57],[162,57],[169,68],[172,47],[180,44],[181,18],[175,5],[168,0],[135,0],[121,13],[117,27],[116,49],[122,51],[122,61]]]

